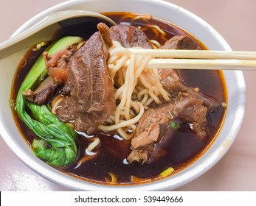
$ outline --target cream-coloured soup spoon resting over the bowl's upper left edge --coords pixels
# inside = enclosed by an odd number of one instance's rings
[[[99,22],[104,22],[108,26],[115,25],[114,21],[105,15],[86,10],[66,10],[50,13],[38,23],[32,25],[27,31],[0,43],[0,60],[36,43],[53,40],[56,32],[61,28],[80,24],[81,22],[84,25],[95,24],[95,29]]]

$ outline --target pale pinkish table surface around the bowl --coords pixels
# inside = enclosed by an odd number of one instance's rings
[[[0,42],[48,7],[63,0],[0,0]],[[256,51],[255,0],[169,0],[211,24],[234,50]],[[28,9],[29,8],[29,9]],[[176,191],[256,191],[256,71],[245,71],[246,114],[238,137],[224,157]],[[0,138],[0,191],[69,191],[24,165]]]

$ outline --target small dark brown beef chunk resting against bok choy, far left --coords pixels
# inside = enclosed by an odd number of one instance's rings
[[[27,90],[23,92],[24,97],[35,104],[47,104],[58,90],[58,84],[53,81],[52,77],[46,77],[35,91]]]

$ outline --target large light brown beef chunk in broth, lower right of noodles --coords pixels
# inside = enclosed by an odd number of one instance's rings
[[[156,143],[164,136],[165,129],[170,127],[170,123],[176,118],[182,118],[191,125],[193,132],[200,138],[205,138],[207,108],[202,103],[201,99],[189,93],[179,93],[173,102],[147,110],[139,120],[134,138],[131,140],[133,151],[129,154],[128,161],[147,162]]]

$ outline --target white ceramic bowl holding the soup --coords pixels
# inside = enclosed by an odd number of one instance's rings
[[[99,6],[100,5],[100,6]],[[39,19],[46,14],[60,10],[91,10],[97,13],[128,11],[135,13],[151,14],[157,18],[162,18],[170,21],[177,26],[190,32],[196,38],[201,40],[209,49],[231,50],[224,38],[215,31],[209,24],[203,21],[193,13],[184,10],[174,4],[166,1],[157,0],[75,0],[66,1],[63,4],[58,4],[48,10],[36,15],[34,18],[27,21],[13,35],[18,35],[20,32],[26,31],[32,24],[35,24]],[[12,63],[7,64],[1,60],[0,75],[0,131],[10,149],[32,170],[41,174],[46,179],[52,182],[63,185],[73,190],[139,190],[139,191],[165,191],[178,188],[181,185],[190,182],[201,174],[209,170],[224,154],[235,140],[236,135],[241,127],[246,104],[246,89],[243,74],[241,71],[224,71],[226,87],[228,90],[228,107],[224,124],[219,132],[218,138],[210,146],[195,163],[188,166],[184,170],[165,180],[159,180],[145,185],[132,186],[107,186],[97,185],[90,182],[77,180],[69,177],[60,171],[55,170],[51,166],[46,165],[32,153],[32,150],[21,137],[15,122],[13,120],[12,111],[10,110],[10,90],[12,86],[15,69],[18,63],[24,56],[25,51],[10,57]]]

